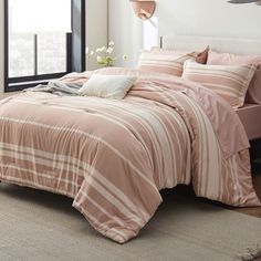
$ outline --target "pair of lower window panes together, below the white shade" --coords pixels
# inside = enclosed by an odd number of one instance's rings
[[[9,77],[38,76],[70,71],[64,33],[9,34]]]

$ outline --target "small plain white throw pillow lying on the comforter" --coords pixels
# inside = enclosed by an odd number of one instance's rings
[[[134,85],[137,77],[125,75],[93,74],[79,90],[80,95],[122,100]]]

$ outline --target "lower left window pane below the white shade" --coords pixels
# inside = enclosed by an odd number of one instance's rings
[[[9,77],[34,75],[33,36],[9,35]]]

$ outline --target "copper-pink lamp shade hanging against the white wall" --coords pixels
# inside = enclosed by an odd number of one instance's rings
[[[133,4],[134,12],[143,20],[147,20],[153,17],[156,2],[154,0],[129,0]]]

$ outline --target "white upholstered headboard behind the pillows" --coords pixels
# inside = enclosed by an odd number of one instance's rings
[[[160,39],[161,48],[203,50],[207,45],[218,52],[261,55],[261,39],[226,39],[208,36],[167,35]]]

